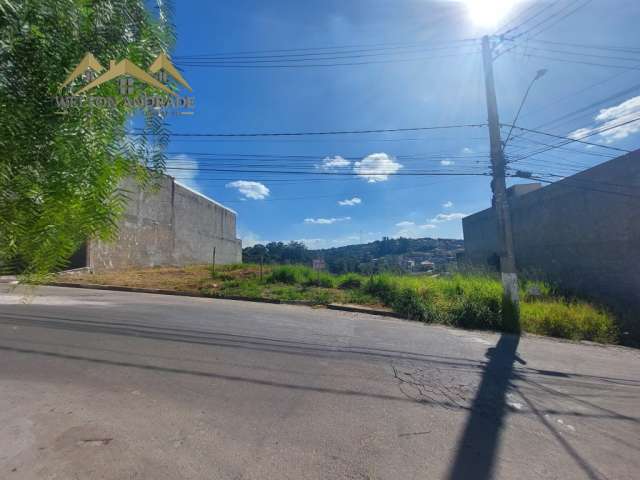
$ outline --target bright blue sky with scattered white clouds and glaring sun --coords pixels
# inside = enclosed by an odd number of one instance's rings
[[[456,128],[175,135],[169,174],[235,210],[244,246],[462,238],[461,219],[491,205],[488,130],[462,127],[487,121],[477,39],[506,37],[502,123],[546,69],[518,126],[597,144],[518,160],[563,140],[514,130],[510,171],[555,181],[638,148],[640,122],[594,131],[640,116],[638,18],[637,0],[175,2],[172,59],[196,109],[169,120],[173,133]]]

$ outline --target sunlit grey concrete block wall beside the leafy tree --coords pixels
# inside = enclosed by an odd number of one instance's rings
[[[93,269],[189,265],[242,261],[232,210],[163,177],[160,188],[143,192],[133,180],[122,185],[129,198],[113,242],[89,242]]]

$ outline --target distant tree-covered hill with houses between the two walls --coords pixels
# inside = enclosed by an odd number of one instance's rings
[[[447,238],[388,238],[344,247],[309,250],[300,242],[271,242],[243,249],[243,261],[258,263],[311,263],[325,260],[333,273],[419,271],[444,269],[464,251],[463,240]],[[430,265],[430,263],[433,265]]]

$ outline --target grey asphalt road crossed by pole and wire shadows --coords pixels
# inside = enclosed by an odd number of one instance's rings
[[[637,479],[640,354],[0,286],[3,479]]]

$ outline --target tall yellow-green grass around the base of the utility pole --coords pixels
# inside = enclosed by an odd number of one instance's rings
[[[420,278],[378,275],[364,290],[407,318],[461,328],[517,332],[520,330],[572,340],[613,342],[615,318],[580,300],[551,297],[553,289],[536,284],[539,296],[523,286],[520,319],[502,297],[500,282],[490,276]]]

